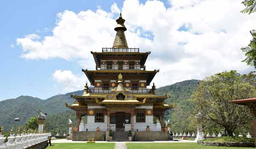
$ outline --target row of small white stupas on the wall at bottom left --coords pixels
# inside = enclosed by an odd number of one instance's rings
[[[23,134],[20,136],[10,136],[6,137],[0,136],[0,149],[26,149],[29,146],[34,146],[36,144],[42,143],[48,140],[48,136],[51,136],[50,133],[42,134]]]

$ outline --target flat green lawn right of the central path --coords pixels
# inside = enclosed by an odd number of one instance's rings
[[[253,149],[250,147],[201,146],[197,143],[126,143],[128,149]]]

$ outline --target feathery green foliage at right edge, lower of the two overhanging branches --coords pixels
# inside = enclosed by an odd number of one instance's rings
[[[246,62],[247,65],[254,66],[256,69],[256,30],[250,31],[253,39],[250,40],[250,44],[246,47],[241,48],[245,52],[246,58],[242,62]]]

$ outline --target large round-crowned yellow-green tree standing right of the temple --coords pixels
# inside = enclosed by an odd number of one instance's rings
[[[206,77],[199,89],[192,95],[198,103],[202,99],[201,117],[198,122],[205,128],[225,128],[229,136],[252,121],[249,110],[241,105],[231,103],[232,100],[245,99],[255,95],[255,89],[244,80],[239,73],[232,70]],[[199,104],[198,104],[199,105]]]

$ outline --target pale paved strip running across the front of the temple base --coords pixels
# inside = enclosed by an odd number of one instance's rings
[[[56,139],[56,140],[51,140],[52,143],[86,143],[87,141],[72,141],[72,140],[66,140],[66,139]],[[143,141],[136,141],[136,142],[121,142],[121,143],[195,143],[195,141],[191,140],[169,140],[169,141],[148,141],[148,142],[143,142]],[[120,143],[120,142],[107,142],[107,141],[96,141],[96,143]]]

